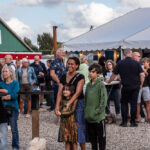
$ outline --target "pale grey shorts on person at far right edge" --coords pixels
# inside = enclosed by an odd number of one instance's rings
[[[142,99],[144,102],[150,101],[150,90],[148,86],[140,89],[137,103],[141,103]]]

